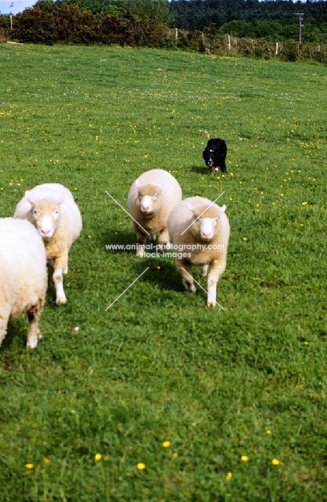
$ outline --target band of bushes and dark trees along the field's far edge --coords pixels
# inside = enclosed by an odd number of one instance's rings
[[[327,44],[327,0],[39,0],[14,17],[0,15],[0,39],[54,44],[119,43],[204,50],[205,42],[225,35],[266,39],[298,39]],[[175,28],[181,30],[176,40]]]

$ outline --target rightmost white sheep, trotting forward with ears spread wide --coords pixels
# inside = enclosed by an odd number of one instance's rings
[[[226,206],[219,207],[209,199],[190,197],[175,206],[168,219],[174,247],[178,245],[183,250],[177,253],[176,267],[188,291],[196,292],[192,265],[199,265],[201,276],[205,277],[210,264],[208,307],[216,306],[217,281],[226,267],[230,229],[225,209]]]

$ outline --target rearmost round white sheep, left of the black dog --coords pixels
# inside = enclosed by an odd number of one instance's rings
[[[167,220],[171,210],[182,200],[178,181],[167,171],[152,169],[134,181],[128,193],[128,207],[138,238],[137,256],[142,256],[147,233],[160,244],[169,242]],[[147,232],[147,233],[146,233]]]

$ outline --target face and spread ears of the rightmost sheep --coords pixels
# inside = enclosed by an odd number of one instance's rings
[[[201,206],[194,208],[189,204],[189,209],[193,212],[193,224],[191,231],[197,240],[210,242],[216,237],[221,228],[220,215],[225,211],[226,206]]]

